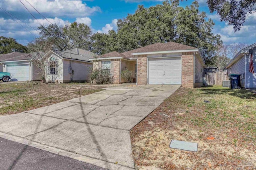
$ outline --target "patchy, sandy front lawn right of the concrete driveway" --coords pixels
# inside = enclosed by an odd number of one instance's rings
[[[256,94],[180,88],[130,134],[138,168],[256,169]],[[198,152],[170,149],[172,139],[196,142]]]

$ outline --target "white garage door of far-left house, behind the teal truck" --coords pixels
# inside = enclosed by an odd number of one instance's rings
[[[11,73],[12,81],[26,81],[29,80],[28,64],[8,65],[7,72]]]

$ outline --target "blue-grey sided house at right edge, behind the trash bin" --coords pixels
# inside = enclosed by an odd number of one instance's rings
[[[226,66],[228,75],[241,74],[240,79],[243,88],[256,88],[256,73],[252,74],[249,71],[251,54],[253,55],[253,65],[256,71],[256,43],[239,51]]]

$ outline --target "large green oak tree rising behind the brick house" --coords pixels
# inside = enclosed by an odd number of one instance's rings
[[[206,64],[211,64],[222,41],[220,35],[212,33],[214,22],[206,21],[206,13],[200,12],[198,7],[198,2],[193,2],[183,8],[179,1],[166,1],[150,8],[139,5],[135,14],[118,20],[116,34],[97,34],[92,49],[100,51],[99,54],[113,50],[125,52],[153,43],[174,41],[199,48]]]

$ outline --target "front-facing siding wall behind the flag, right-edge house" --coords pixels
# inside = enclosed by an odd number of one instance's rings
[[[249,72],[250,55],[246,55],[246,88],[256,88],[256,48],[253,49],[254,74]]]

